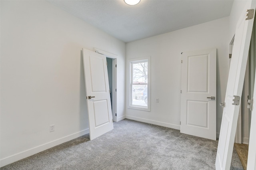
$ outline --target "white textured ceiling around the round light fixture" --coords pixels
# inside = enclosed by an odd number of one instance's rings
[[[230,15],[233,0],[48,0],[122,40],[132,42]]]

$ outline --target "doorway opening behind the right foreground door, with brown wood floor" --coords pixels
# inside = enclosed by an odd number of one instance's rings
[[[238,116],[238,125],[236,129],[236,137],[234,147],[238,152],[238,156],[241,160],[241,163],[244,169],[247,168],[248,160],[248,144],[250,138],[250,127],[251,127],[251,117],[252,117],[252,108],[250,107],[250,99],[254,93],[254,77],[256,70],[256,22],[254,20],[254,26],[252,30],[249,54],[246,65],[246,72],[244,77],[244,86],[241,97],[241,105]],[[234,43],[234,38],[231,43]],[[232,53],[232,45],[230,43],[230,51]],[[231,57],[231,55],[230,55]]]

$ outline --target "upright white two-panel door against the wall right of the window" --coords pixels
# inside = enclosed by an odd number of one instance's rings
[[[182,53],[180,132],[216,140],[216,49]]]

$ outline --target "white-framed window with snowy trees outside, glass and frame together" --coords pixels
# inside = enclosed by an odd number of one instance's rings
[[[150,58],[130,60],[130,109],[150,111]]]

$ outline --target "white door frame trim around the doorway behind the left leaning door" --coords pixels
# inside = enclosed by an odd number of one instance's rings
[[[94,48],[94,51],[96,53],[100,53],[102,55],[105,55],[108,58],[112,58],[112,117],[113,117],[113,121],[116,122],[117,121],[117,92],[116,92],[116,88],[117,88],[117,72],[116,72],[116,64],[117,64],[117,55],[109,53],[107,51],[98,49],[98,48]]]

